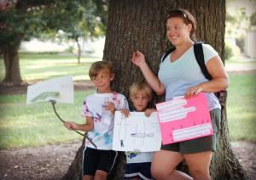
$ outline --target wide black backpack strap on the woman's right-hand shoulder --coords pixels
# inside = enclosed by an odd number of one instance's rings
[[[204,58],[204,52],[202,48],[203,42],[195,42],[194,43],[194,53],[195,53],[195,59],[197,61],[197,64],[200,66],[200,69],[203,73],[203,75],[208,79],[212,80],[212,76],[209,74],[207,70],[207,66],[205,64],[205,58]]]

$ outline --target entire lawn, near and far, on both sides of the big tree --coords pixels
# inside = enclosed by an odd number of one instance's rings
[[[20,70],[26,81],[48,79],[54,76],[72,75],[74,80],[89,79],[90,64],[100,60],[84,57],[82,63],[71,56],[53,54],[22,54]],[[226,64],[255,62],[227,61]],[[3,77],[3,60],[0,59],[0,77]],[[230,137],[232,140],[256,142],[255,74],[230,73],[227,101]],[[2,78],[3,79],[3,78]],[[56,104],[63,119],[84,122],[81,102],[94,90],[74,93],[74,104]],[[68,131],[57,119],[49,103],[26,105],[26,94],[0,95],[0,149],[19,149],[51,143],[67,143],[81,140],[75,132]]]

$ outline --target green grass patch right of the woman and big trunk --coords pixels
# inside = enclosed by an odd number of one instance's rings
[[[255,74],[230,74],[227,115],[231,140],[256,142],[255,80]]]

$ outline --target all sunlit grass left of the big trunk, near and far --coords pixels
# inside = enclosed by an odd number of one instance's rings
[[[20,72],[24,81],[44,80],[55,76],[73,76],[89,80],[88,70],[96,57],[82,57],[81,63],[71,55],[20,54]],[[0,57],[0,80],[3,80],[3,57]],[[63,119],[84,122],[81,102],[93,90],[75,92],[74,104],[56,104]],[[49,103],[26,105],[26,95],[0,95],[0,149],[18,149],[49,143],[67,143],[82,137],[62,126]]]

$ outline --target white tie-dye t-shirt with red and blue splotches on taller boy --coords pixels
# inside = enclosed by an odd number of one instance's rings
[[[111,101],[116,110],[128,109],[127,99],[120,93],[94,93],[87,96],[82,105],[82,115],[93,117],[94,127],[88,137],[96,144],[97,149],[112,149],[113,115],[106,110],[104,104]],[[95,149],[86,139],[85,145]]]

